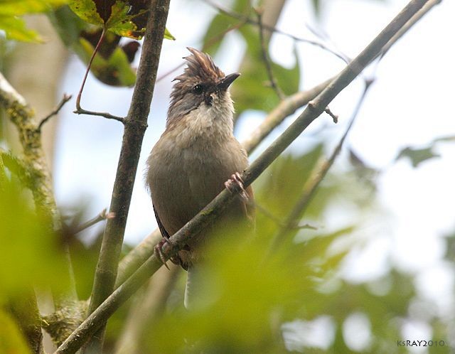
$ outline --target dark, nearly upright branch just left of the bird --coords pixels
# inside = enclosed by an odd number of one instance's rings
[[[122,149],[109,208],[109,213],[114,213],[115,218],[108,219],[106,222],[90,299],[89,313],[95,311],[114,290],[134,178],[139,162],[142,139],[147,127],[151,98],[154,92],[156,70],[158,69],[164,28],[168,16],[169,0],[153,0],[151,1],[150,9],[137,73],[137,82],[127,118],[124,119],[125,129]],[[87,347],[87,350],[94,353],[100,353],[102,348],[102,328],[104,326],[100,327],[101,333],[93,336]]]

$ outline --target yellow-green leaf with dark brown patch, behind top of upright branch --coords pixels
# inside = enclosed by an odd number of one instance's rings
[[[141,39],[146,28],[150,0],[70,0],[70,8],[82,20],[119,36]],[[166,30],[166,39],[175,39]]]

